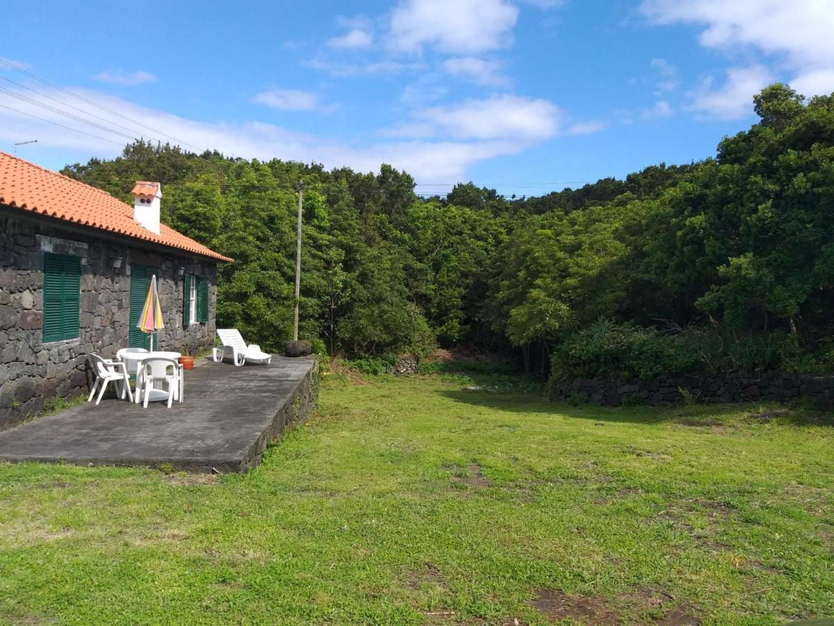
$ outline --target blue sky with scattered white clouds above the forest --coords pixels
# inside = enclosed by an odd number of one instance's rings
[[[711,157],[769,83],[834,91],[834,0],[3,0],[3,18],[0,150],[37,139],[18,156],[53,169],[143,137],[530,196]]]

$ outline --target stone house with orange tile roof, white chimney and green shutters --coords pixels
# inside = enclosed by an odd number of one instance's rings
[[[214,345],[217,264],[232,259],[159,222],[159,183],[133,196],[131,207],[0,152],[0,429],[87,393],[88,354],[147,347],[136,323],[154,274],[165,323],[154,346]]]

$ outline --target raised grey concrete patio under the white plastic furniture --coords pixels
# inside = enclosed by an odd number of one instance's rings
[[[312,412],[314,357],[242,368],[202,361],[185,373],[183,403],[148,408],[113,398],[0,433],[0,461],[171,466],[244,472],[267,444]]]

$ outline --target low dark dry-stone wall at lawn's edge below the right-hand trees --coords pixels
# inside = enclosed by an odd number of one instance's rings
[[[656,406],[683,401],[681,389],[691,393],[697,402],[705,403],[741,400],[786,402],[809,398],[819,408],[834,408],[834,376],[808,376],[789,372],[686,374],[646,381],[566,378],[552,385],[551,398],[575,399],[612,407],[632,402]]]

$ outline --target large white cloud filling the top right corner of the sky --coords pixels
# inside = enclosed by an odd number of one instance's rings
[[[699,41],[737,53],[754,48],[777,55],[806,96],[831,93],[834,6],[831,0],[644,0],[641,12],[658,24],[696,23]]]

